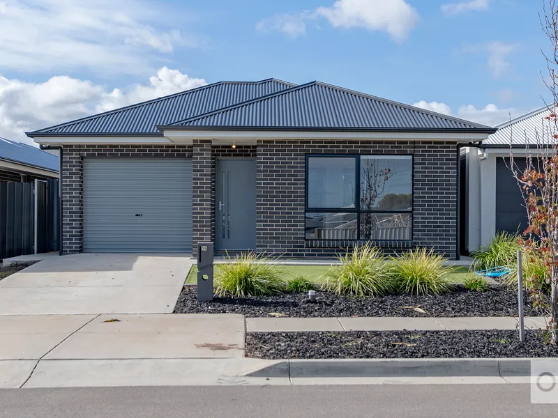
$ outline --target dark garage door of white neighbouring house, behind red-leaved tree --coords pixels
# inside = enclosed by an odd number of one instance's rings
[[[506,158],[509,164],[509,158]],[[520,170],[525,169],[525,158],[514,158]],[[525,202],[510,169],[503,158],[496,161],[496,229],[508,233],[522,233],[527,228]]]

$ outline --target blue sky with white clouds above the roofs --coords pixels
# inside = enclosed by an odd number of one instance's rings
[[[91,3],[95,3],[91,5]],[[221,80],[318,79],[495,125],[541,107],[534,0],[0,0],[0,136]]]

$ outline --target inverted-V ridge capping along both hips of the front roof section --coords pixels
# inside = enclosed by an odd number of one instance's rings
[[[246,100],[245,102],[232,104],[231,106],[223,107],[221,109],[216,109],[216,110],[213,110],[213,111],[210,111],[210,112],[206,112],[205,114],[201,114],[201,115],[193,116],[191,118],[183,119],[181,121],[176,121],[176,122],[173,122],[173,123],[171,123],[167,126],[176,126],[176,125],[181,125],[183,123],[189,123],[189,122],[192,122],[192,121],[197,121],[198,119],[206,118],[208,116],[213,116],[214,114],[223,113],[225,111],[229,111],[229,110],[232,110],[232,109],[239,109],[241,107],[248,106],[249,104],[252,104],[252,103],[255,103],[255,102],[262,102],[264,100],[268,100],[269,98],[278,97],[282,94],[292,93],[293,91],[300,90],[302,88],[306,88],[306,87],[309,87],[309,86],[312,86],[312,85],[324,86],[326,88],[332,88],[332,89],[337,90],[337,91],[344,91],[346,93],[356,95],[356,96],[359,96],[359,97],[362,97],[362,98],[368,98],[370,100],[376,100],[377,102],[392,104],[393,106],[402,107],[402,108],[409,109],[411,111],[416,111],[416,112],[419,112],[419,113],[422,113],[422,114],[428,114],[430,116],[434,116],[434,117],[437,117],[437,118],[444,118],[446,120],[454,121],[454,122],[457,122],[457,123],[465,123],[466,125],[469,125],[469,126],[472,126],[472,127],[477,127],[479,129],[490,128],[490,126],[482,125],[481,123],[474,123],[474,122],[471,122],[471,121],[467,121],[465,119],[455,118],[454,116],[448,116],[448,115],[440,114],[440,113],[437,113],[435,111],[430,111],[430,110],[427,110],[427,109],[422,109],[420,107],[411,106],[410,104],[395,102],[395,100],[380,98],[380,97],[375,96],[375,95],[370,95],[368,93],[361,93],[360,91],[355,91],[355,90],[351,90],[349,88],[344,88],[344,87],[340,87],[340,86],[335,86],[333,84],[319,82],[317,80],[315,80],[313,82],[306,83],[306,84],[299,84],[298,86],[294,86],[292,88],[285,88],[285,90],[277,91],[276,93],[270,93],[268,95],[264,95],[264,96],[261,96],[259,98],[254,98],[254,99]],[[161,126],[163,126],[163,125],[161,125]]]

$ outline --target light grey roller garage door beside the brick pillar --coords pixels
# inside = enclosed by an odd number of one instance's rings
[[[192,251],[192,160],[86,158],[84,251]]]

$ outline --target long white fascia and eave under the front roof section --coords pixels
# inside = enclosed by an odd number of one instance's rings
[[[333,131],[221,131],[221,130],[163,130],[163,135],[176,144],[192,144],[193,139],[241,141],[256,139],[401,139],[422,141],[477,142],[489,134],[436,132],[333,132]]]

